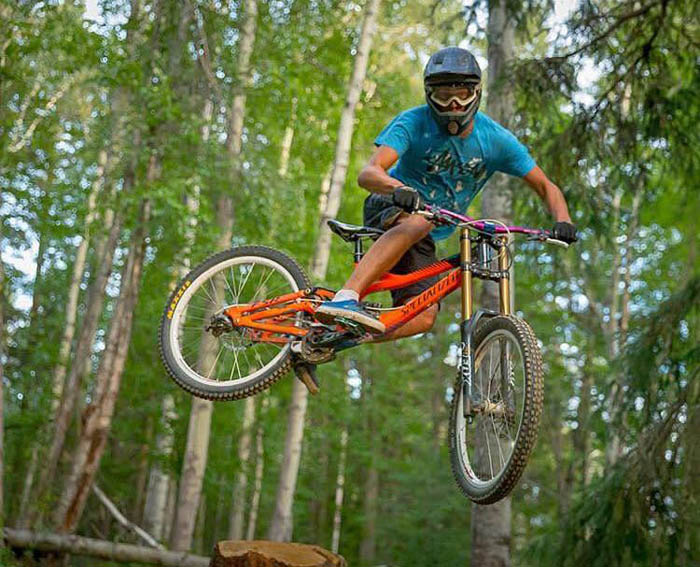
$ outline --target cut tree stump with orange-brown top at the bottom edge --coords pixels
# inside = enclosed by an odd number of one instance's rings
[[[220,541],[209,567],[347,567],[345,559],[317,545],[277,541]]]

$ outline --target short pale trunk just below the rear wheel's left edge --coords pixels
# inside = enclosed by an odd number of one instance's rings
[[[146,505],[143,511],[143,527],[158,541],[163,541],[165,512],[172,481],[170,474],[163,470],[159,461],[167,460],[173,451],[173,422],[176,418],[175,400],[172,395],[168,394],[163,397],[161,431],[156,437],[155,457],[157,460],[151,467],[148,477]]]

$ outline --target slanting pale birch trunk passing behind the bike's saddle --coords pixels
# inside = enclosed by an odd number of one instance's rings
[[[331,233],[326,222],[335,218],[340,208],[340,198],[345,186],[345,176],[350,155],[355,107],[360,98],[362,84],[367,71],[367,62],[369,60],[372,37],[376,28],[379,2],[380,0],[369,0],[365,8],[360,42],[338,127],[335,161],[328,191],[328,200],[321,214],[319,235],[314,249],[311,272],[312,279],[315,281],[323,280],[328,269]],[[295,380],[292,386],[292,400],[287,420],[283,464],[277,485],[277,505],[268,531],[268,539],[273,541],[288,541],[292,536],[292,505],[294,503],[294,491],[299,472],[301,444],[304,439],[307,396],[308,390],[306,387],[299,380]]]

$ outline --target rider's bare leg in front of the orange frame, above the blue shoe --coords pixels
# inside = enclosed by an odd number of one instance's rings
[[[382,234],[362,257],[343,289],[361,294],[433,228],[435,226],[423,217],[401,213],[396,224]]]

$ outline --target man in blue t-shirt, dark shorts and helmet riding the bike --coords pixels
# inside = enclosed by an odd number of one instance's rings
[[[437,261],[435,240],[454,227],[435,227],[413,214],[423,203],[466,211],[496,171],[523,178],[545,203],[555,225],[553,238],[576,241],[566,200],[560,189],[535,164],[517,138],[478,112],[481,69],[466,49],[447,47],[430,59],[423,73],[426,105],[399,114],[375,140],[376,150],[358,176],[371,195],[364,204],[364,223],[386,230],[357,264],[332,301],[316,311],[319,320],[337,317],[355,321],[372,333],[384,324],[360,303],[360,295],[382,274],[405,274]],[[392,291],[394,306],[403,305],[437,277]],[[434,305],[389,334],[398,339],[432,328]]]

